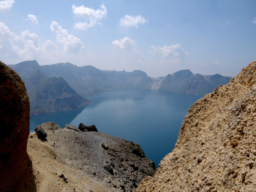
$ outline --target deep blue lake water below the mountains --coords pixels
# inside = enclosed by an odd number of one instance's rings
[[[148,89],[118,89],[87,97],[92,101],[79,111],[55,112],[30,118],[35,126],[55,122],[78,127],[96,125],[99,132],[139,143],[156,166],[172,152],[188,108],[200,97]]]

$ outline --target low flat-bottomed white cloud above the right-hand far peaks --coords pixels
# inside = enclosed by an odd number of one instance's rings
[[[163,57],[178,57],[181,55],[188,55],[188,53],[184,51],[180,44],[172,44],[170,46],[164,45],[164,47],[156,47],[154,45],[151,45],[150,47],[153,50],[149,52],[151,52],[152,54],[158,54]]]

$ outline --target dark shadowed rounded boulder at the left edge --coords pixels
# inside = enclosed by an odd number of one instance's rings
[[[0,191],[36,191],[27,154],[29,100],[18,74],[0,61]]]

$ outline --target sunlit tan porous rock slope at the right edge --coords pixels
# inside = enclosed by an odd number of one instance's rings
[[[256,191],[256,60],[189,108],[172,153],[136,192]]]

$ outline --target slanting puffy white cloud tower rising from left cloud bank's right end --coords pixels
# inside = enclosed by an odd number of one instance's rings
[[[85,50],[85,47],[80,39],[68,34],[67,29],[62,29],[57,22],[52,21],[52,32],[57,34],[57,43],[63,46],[63,52],[79,52]]]

